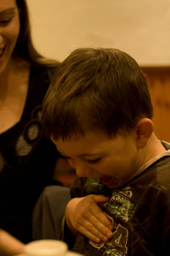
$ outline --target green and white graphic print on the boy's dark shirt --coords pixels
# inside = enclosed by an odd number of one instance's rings
[[[98,180],[91,179],[88,189],[102,191],[102,184]],[[113,191],[109,202],[103,204],[103,209],[114,216],[112,218],[105,212],[113,223],[113,236],[108,242],[101,241],[99,244],[89,240],[89,244],[98,249],[103,256],[126,256],[128,253],[129,230],[123,222],[127,222],[135,213],[137,204],[131,198],[132,191],[128,186],[122,190]]]

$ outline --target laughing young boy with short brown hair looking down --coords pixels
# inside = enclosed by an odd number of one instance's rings
[[[169,255],[170,145],[154,135],[152,116],[146,78],[128,54],[80,48],[58,68],[44,99],[44,132],[84,177],[75,181],[72,197],[110,196],[100,207],[113,224],[112,237],[100,243],[78,233],[74,251]],[[88,208],[86,198],[78,204]],[[76,209],[66,210],[72,233]],[[89,220],[95,226],[89,216],[83,225]]]

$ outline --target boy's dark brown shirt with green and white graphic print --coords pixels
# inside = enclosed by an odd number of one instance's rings
[[[79,233],[73,251],[87,256],[170,255],[170,155],[121,189],[109,190],[97,179],[77,178],[71,191],[72,197],[110,196],[101,209],[114,226],[113,237],[99,244]]]

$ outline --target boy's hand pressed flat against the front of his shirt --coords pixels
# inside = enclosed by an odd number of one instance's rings
[[[65,211],[66,223],[70,231],[77,235],[79,231],[93,242],[108,241],[113,233],[113,224],[97,205],[106,203],[109,197],[90,195],[73,198],[69,201]]]

